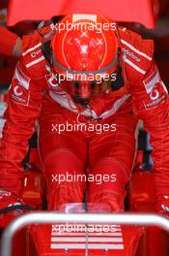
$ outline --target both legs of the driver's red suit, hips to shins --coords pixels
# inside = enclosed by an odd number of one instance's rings
[[[50,109],[48,113],[46,108]],[[89,175],[92,175],[94,180],[89,179],[87,201],[107,204],[109,210],[122,210],[136,144],[136,120],[130,115],[130,110],[123,116],[113,116],[99,122],[110,125],[116,123],[116,131],[101,134],[74,131],[59,135],[51,131],[52,124],[66,124],[67,121],[72,125],[78,124],[76,115],[69,111],[62,114],[60,107],[51,103],[44,104],[43,109],[45,113],[42,111],[40,118],[40,151],[47,181],[48,209],[58,209],[67,203],[83,202],[86,188],[84,178],[88,180]],[[124,127],[124,123],[130,124],[129,129]],[[97,125],[98,122],[93,124]],[[85,171],[87,165],[90,167],[89,173]],[[67,173],[70,180],[68,182],[63,177]],[[61,182],[58,181],[59,175],[64,179]],[[83,178],[77,181],[77,176]],[[103,176],[108,178],[104,181]]]

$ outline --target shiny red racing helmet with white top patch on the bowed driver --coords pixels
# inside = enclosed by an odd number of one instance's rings
[[[77,102],[106,91],[116,79],[116,24],[104,16],[70,15],[53,29],[52,64],[61,87]]]

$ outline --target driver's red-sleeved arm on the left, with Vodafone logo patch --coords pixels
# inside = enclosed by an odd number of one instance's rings
[[[22,185],[22,160],[41,105],[41,84],[29,77],[21,57],[8,92],[8,107],[3,116],[0,140],[0,187],[17,195]]]

